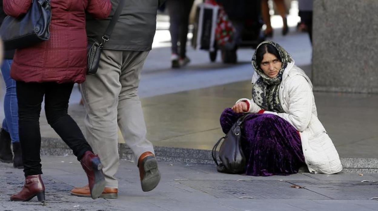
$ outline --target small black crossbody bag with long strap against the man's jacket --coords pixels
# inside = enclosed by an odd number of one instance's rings
[[[99,43],[96,39],[88,37],[87,44],[87,75],[94,75],[97,72],[98,64],[100,63],[100,56],[102,49],[104,48],[105,42],[109,41],[110,35],[113,32],[114,26],[116,25],[119,15],[121,15],[123,6],[125,5],[124,0],[119,0],[117,9],[110,20],[108,27],[106,28],[105,34],[102,36],[102,42]]]

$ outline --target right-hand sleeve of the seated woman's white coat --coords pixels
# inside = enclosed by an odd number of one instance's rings
[[[307,80],[302,75],[295,75],[289,82],[288,92],[288,113],[277,113],[265,111],[264,114],[276,114],[291,125],[298,131],[304,131],[311,119],[312,108],[312,89]],[[284,100],[285,101],[285,100]],[[286,102],[286,101],[285,101]]]

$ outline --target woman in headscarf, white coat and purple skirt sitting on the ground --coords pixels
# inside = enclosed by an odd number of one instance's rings
[[[285,49],[260,43],[252,59],[252,99],[240,99],[223,111],[227,133],[244,113],[242,148],[246,175],[272,176],[298,172],[306,164],[313,173],[342,170],[338,152],[318,119],[312,84]]]

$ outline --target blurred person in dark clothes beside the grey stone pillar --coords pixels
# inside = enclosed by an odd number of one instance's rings
[[[307,32],[312,44],[312,0],[299,0],[299,17],[301,22],[298,23],[298,30]]]

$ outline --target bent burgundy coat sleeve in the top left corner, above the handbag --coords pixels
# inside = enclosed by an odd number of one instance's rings
[[[4,12],[12,17],[20,17],[28,12],[31,0],[3,0]]]

